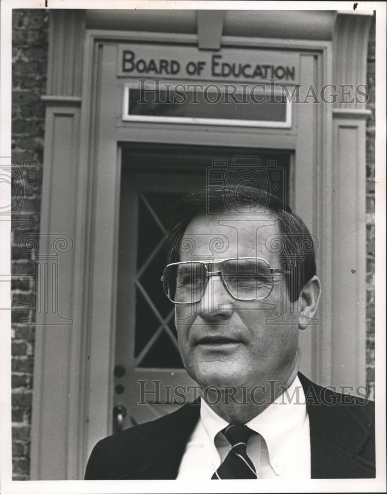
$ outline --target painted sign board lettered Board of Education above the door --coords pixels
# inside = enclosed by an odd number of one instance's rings
[[[299,55],[260,48],[200,51],[193,46],[125,43],[118,45],[117,75],[233,82],[299,82]]]

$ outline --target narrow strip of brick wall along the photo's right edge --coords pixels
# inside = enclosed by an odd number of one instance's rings
[[[375,17],[368,44],[367,107],[372,116],[367,122],[367,385],[370,399],[375,397]]]

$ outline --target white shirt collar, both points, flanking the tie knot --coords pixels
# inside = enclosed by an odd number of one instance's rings
[[[212,444],[215,436],[228,422],[200,400],[200,418]],[[278,396],[268,408],[246,425],[266,441],[272,469],[279,475],[294,449],[307,419],[305,394],[296,376],[288,389]]]

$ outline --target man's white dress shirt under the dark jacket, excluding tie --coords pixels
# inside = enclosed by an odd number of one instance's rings
[[[230,443],[220,432],[228,422],[200,401],[200,419],[183,454],[179,480],[211,479],[230,451]],[[309,418],[298,377],[246,425],[256,432],[247,443],[247,454],[258,479],[310,479]]]

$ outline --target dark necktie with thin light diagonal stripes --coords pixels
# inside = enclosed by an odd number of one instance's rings
[[[247,441],[254,431],[246,425],[228,425],[222,430],[231,445],[230,452],[211,479],[256,479],[257,472],[247,456]]]

